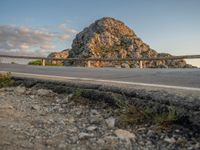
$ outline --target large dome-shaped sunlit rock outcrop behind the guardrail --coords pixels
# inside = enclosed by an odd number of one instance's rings
[[[159,54],[144,43],[123,22],[105,17],[95,21],[76,35],[70,58],[151,58],[171,56]],[[125,62],[125,66],[138,67],[138,62]],[[73,65],[85,66],[86,62],[73,62]],[[91,66],[124,66],[124,62],[92,61]],[[191,67],[184,60],[144,62],[145,67]]]

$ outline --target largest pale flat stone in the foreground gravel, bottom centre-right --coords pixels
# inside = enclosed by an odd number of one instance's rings
[[[130,133],[129,131],[126,131],[126,130],[122,130],[122,129],[115,130],[115,134],[120,139],[128,139],[128,140],[132,139],[132,140],[135,140],[135,138],[136,138],[135,134]]]

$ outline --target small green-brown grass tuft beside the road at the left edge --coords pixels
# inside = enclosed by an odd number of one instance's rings
[[[10,73],[0,73],[0,88],[13,85]]]

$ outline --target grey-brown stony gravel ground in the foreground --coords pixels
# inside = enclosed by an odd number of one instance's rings
[[[119,109],[38,87],[0,89],[0,149],[200,149],[198,133],[174,125],[122,126]]]

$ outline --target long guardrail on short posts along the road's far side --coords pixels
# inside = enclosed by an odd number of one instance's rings
[[[0,55],[0,58],[18,58],[18,59],[40,59],[42,65],[45,66],[45,61],[87,61],[88,67],[90,67],[91,61],[139,61],[140,68],[143,68],[143,61],[156,61],[156,60],[178,60],[178,59],[200,59],[200,55],[182,55],[182,56],[170,56],[170,57],[154,57],[154,58],[48,58],[48,57],[33,57],[33,56],[12,56],[12,55]]]

